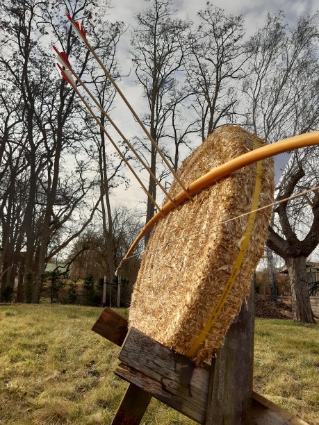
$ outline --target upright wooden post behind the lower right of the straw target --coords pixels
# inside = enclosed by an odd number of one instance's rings
[[[208,394],[206,425],[247,425],[252,417],[254,284],[250,299],[216,354]]]

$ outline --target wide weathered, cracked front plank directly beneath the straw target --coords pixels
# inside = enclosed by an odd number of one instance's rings
[[[125,365],[117,368],[116,374],[204,423],[209,367],[196,367],[190,358],[174,353],[135,328],[129,330],[118,357]]]

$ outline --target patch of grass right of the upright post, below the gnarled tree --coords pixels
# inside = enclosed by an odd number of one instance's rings
[[[254,390],[319,424],[319,326],[256,319]]]

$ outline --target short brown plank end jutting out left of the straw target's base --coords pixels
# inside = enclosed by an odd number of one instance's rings
[[[127,333],[127,320],[106,307],[92,327],[92,331],[121,347]]]

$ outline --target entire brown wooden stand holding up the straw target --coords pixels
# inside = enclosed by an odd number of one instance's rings
[[[229,328],[211,366],[174,353],[106,308],[92,331],[122,346],[115,374],[129,382],[112,424],[140,424],[152,397],[207,425],[306,425],[252,391],[253,295]]]

